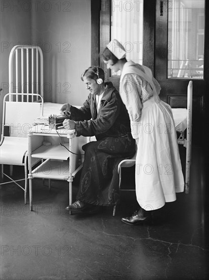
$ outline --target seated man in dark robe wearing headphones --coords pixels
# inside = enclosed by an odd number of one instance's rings
[[[117,165],[135,154],[128,111],[111,82],[104,82],[104,71],[97,66],[86,69],[81,80],[89,95],[82,107],[68,103],[61,111],[68,115],[63,125],[76,129],[77,136],[96,136],[85,144],[84,162],[76,201],[67,210],[96,212],[100,206],[118,202]]]

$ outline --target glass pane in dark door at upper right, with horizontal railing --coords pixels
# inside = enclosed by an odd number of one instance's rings
[[[203,79],[205,0],[172,0],[168,9],[168,78]]]

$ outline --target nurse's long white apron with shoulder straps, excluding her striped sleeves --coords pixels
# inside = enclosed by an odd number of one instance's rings
[[[135,169],[137,201],[145,210],[156,210],[165,202],[175,201],[176,192],[184,191],[184,177],[171,107],[160,100],[151,70],[143,66],[144,74],[134,64],[131,61],[125,64],[120,92],[123,90],[123,77],[128,73],[140,75],[154,89],[153,97],[143,103],[140,121],[131,124],[135,138],[138,136]]]

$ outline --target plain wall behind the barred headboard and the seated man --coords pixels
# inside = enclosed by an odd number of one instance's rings
[[[82,105],[88,93],[80,75],[91,65],[91,1],[1,0],[0,4],[1,110],[9,92],[9,53],[16,44],[41,46],[45,102]]]

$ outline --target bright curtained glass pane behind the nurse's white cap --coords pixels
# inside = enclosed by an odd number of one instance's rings
[[[125,47],[127,60],[142,64],[143,0],[112,0],[111,40],[112,39],[117,39]],[[111,76],[120,75],[120,71],[111,73]]]

